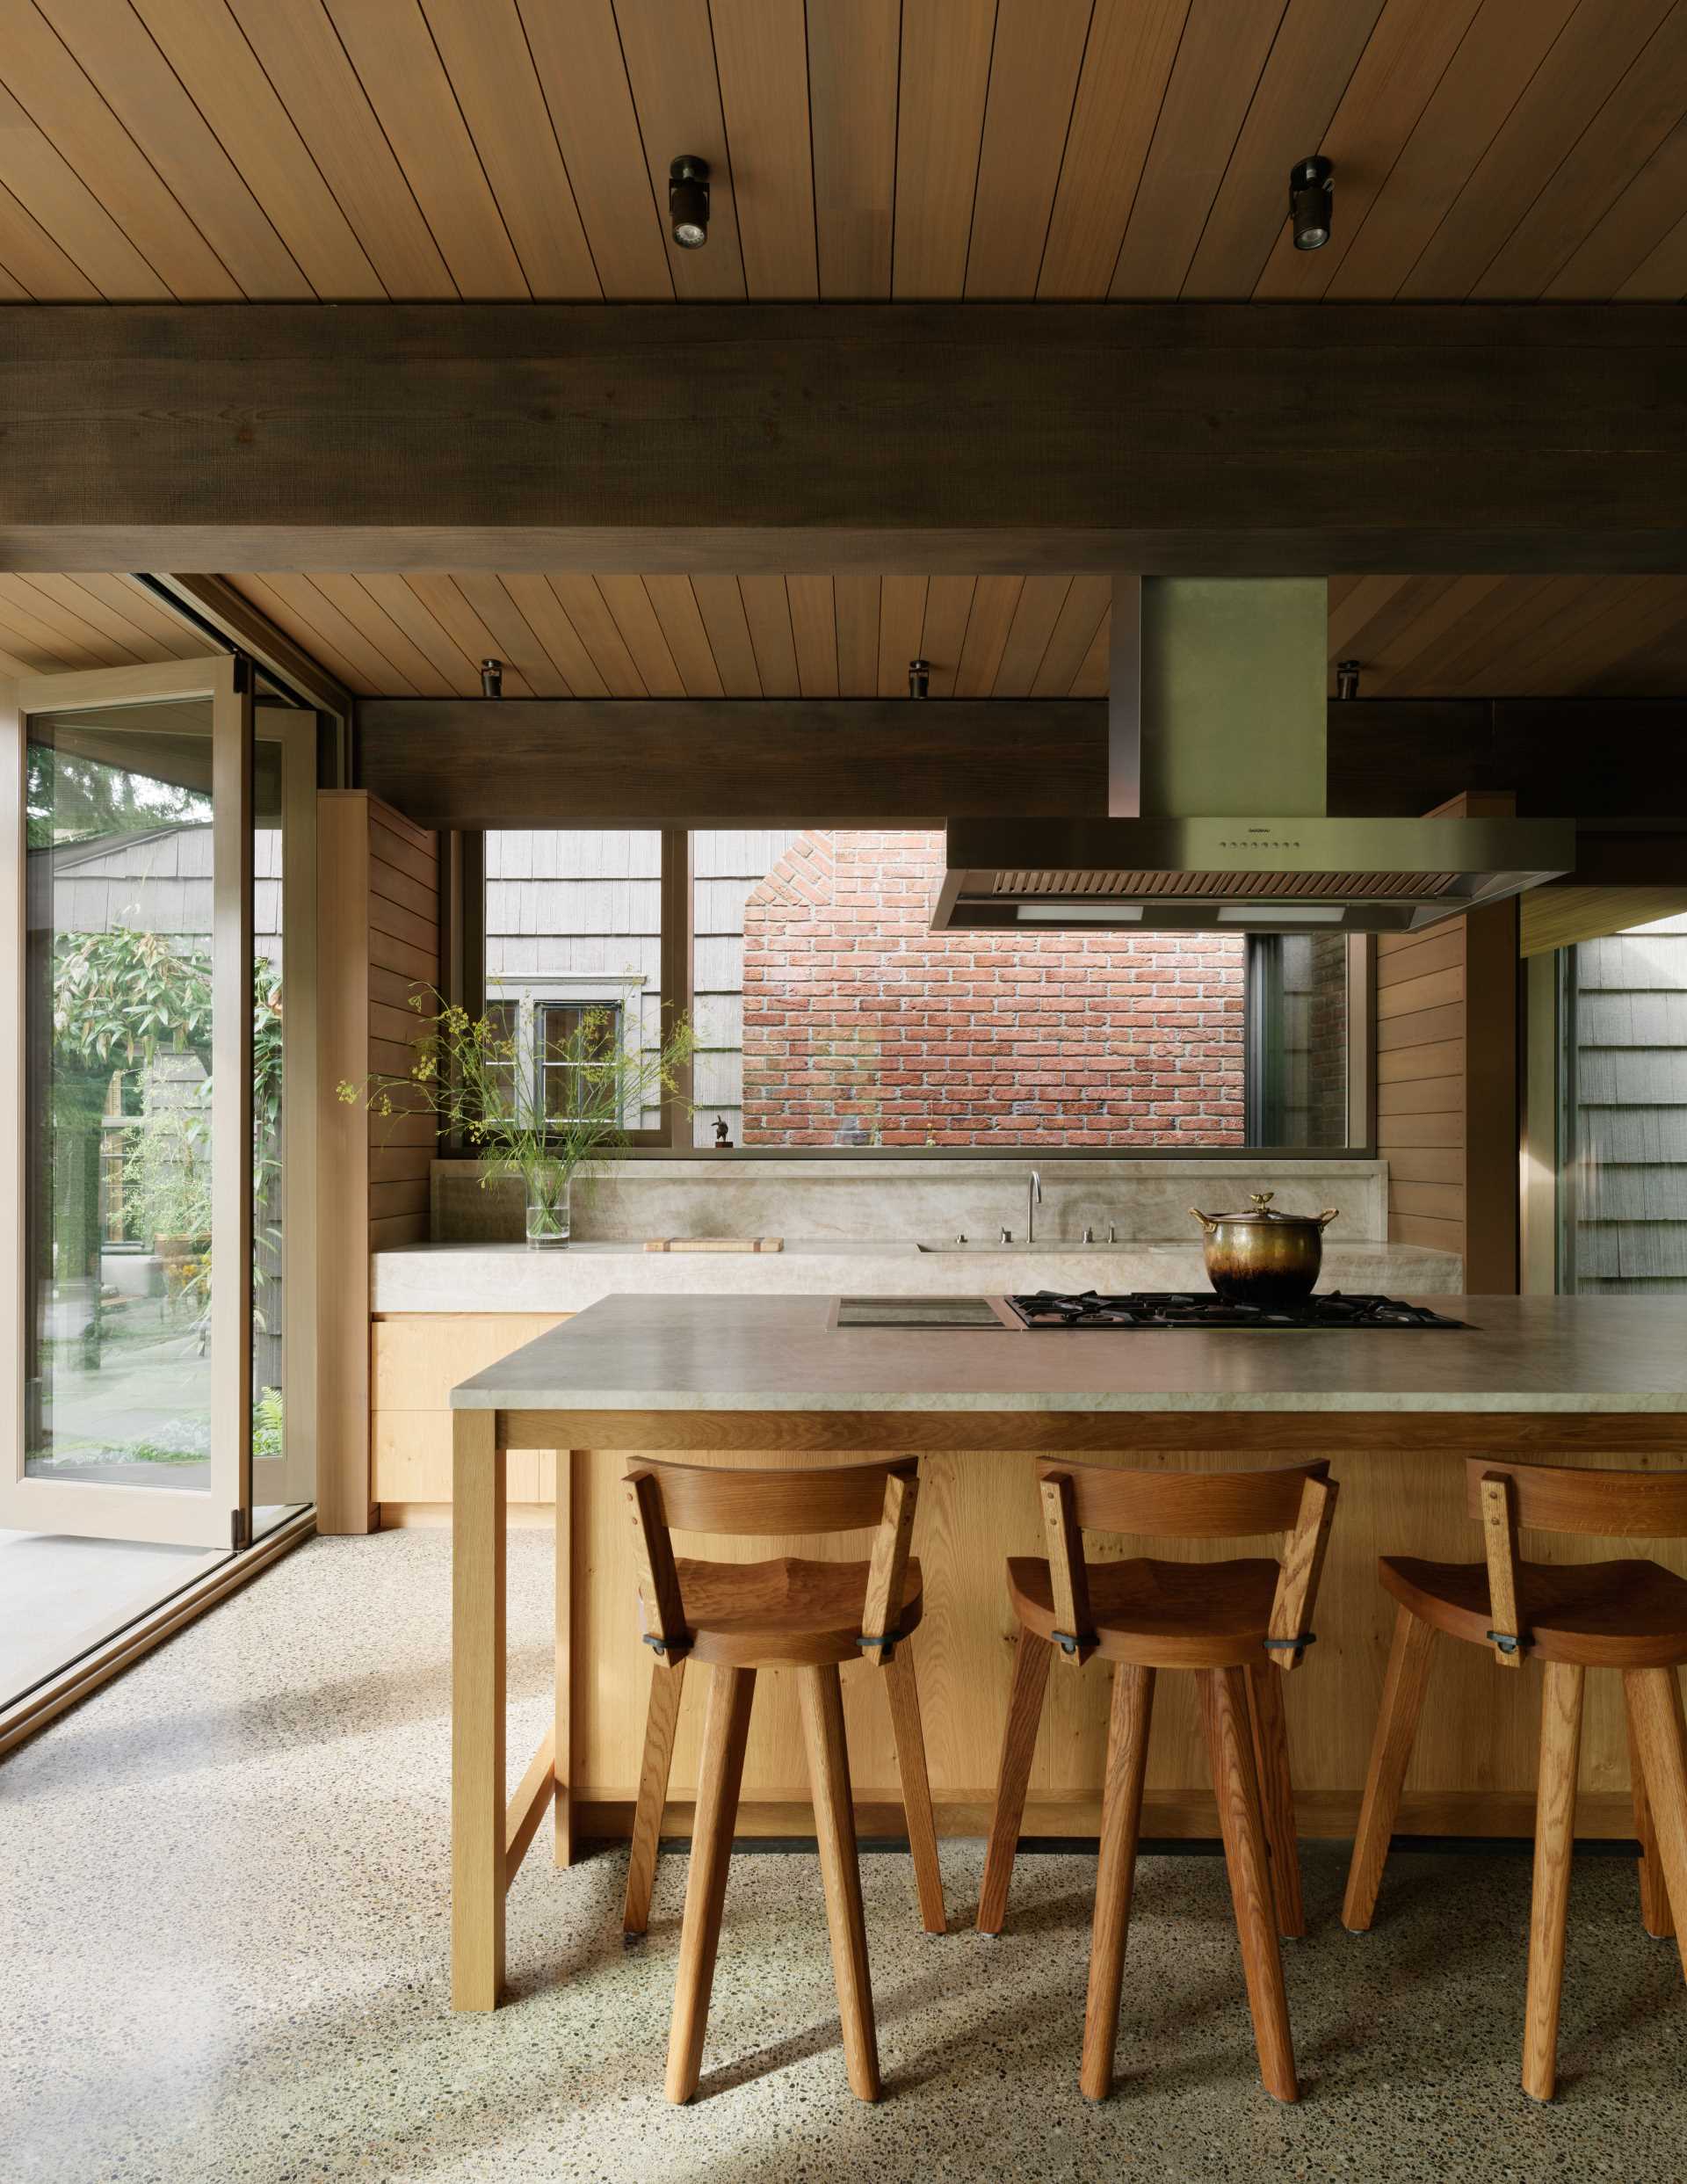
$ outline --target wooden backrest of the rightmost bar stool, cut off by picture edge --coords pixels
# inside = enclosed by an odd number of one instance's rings
[[[1584,1538],[1687,1540],[1687,1472],[1595,1472],[1574,1463],[1467,1457],[1464,1487],[1488,1553],[1488,1636],[1501,1669],[1523,1664],[1528,1638],[1517,1594],[1519,1524]]]

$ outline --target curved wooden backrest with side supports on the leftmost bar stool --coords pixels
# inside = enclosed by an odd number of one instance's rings
[[[901,1623],[908,1551],[914,1538],[919,1459],[812,1470],[720,1470],[646,1461],[622,1481],[639,1559],[648,1636],[663,1660],[690,1649],[672,1531],[718,1531],[740,1540],[788,1533],[875,1531],[862,1610],[864,1655],[884,1666]]]

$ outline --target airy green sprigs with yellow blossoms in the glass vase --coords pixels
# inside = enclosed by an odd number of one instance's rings
[[[615,1011],[583,1009],[574,1029],[546,1046],[548,1075],[563,1072],[574,1107],[554,1116],[543,1109],[535,1072],[519,1066],[515,1042],[500,1037],[489,1018],[471,1018],[432,987],[412,994],[410,1007],[419,1018],[410,1075],[340,1083],[338,1096],[378,1116],[434,1116],[441,1136],[460,1131],[478,1151],[484,1177],[567,1182],[583,1162],[624,1147],[646,1107],[679,1099],[681,1070],[696,1053],[685,1018],[659,1048],[644,1051],[622,1042]]]

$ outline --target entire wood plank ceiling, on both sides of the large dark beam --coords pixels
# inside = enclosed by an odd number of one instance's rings
[[[1676,299],[1687,0],[0,0],[0,299]],[[1285,175],[1336,162],[1327,249]],[[716,173],[703,251],[666,225]],[[356,690],[1093,695],[1078,577],[238,579]],[[70,585],[70,590],[65,590]],[[1687,688],[1683,579],[1364,577],[1366,697]],[[0,673],[157,657],[0,581]]]

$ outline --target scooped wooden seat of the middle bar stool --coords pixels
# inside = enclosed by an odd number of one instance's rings
[[[1281,1564],[1237,1562],[1091,1562],[1089,1621],[1096,1651],[1141,1669],[1244,1669],[1266,1662]],[[1008,1557],[1008,1599],[1019,1623],[1054,1636],[1054,1577],[1032,1555]],[[1087,1636],[1082,1631],[1074,1636]]]

